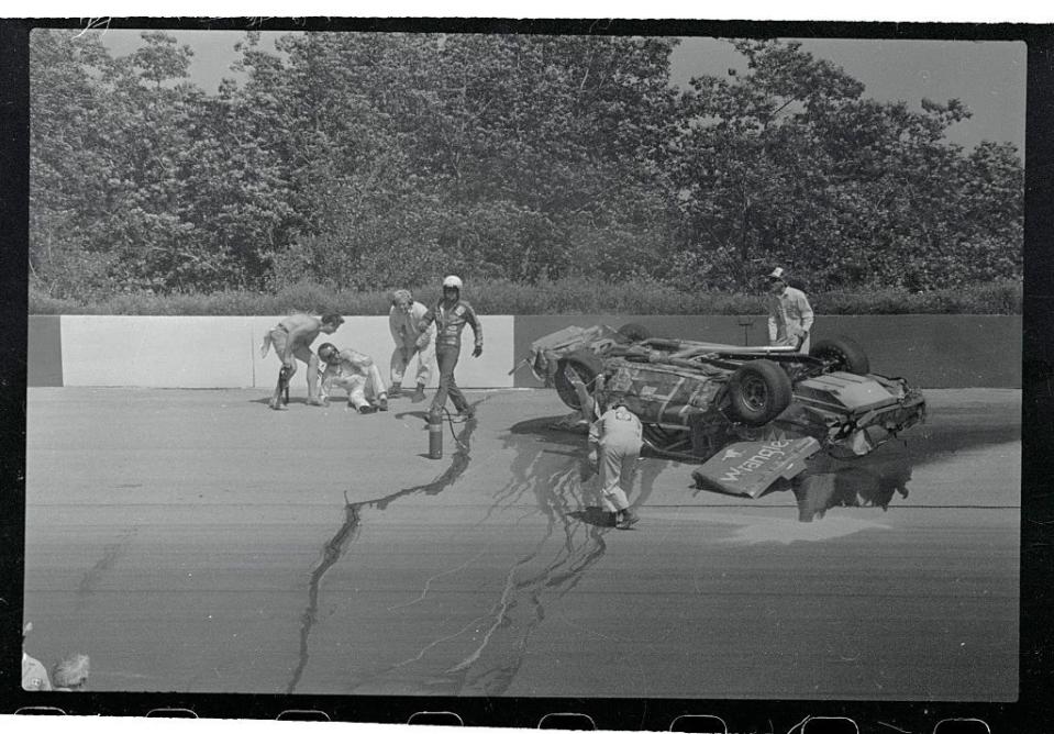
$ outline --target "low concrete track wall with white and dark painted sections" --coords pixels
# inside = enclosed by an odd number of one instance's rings
[[[468,388],[539,387],[529,368],[509,370],[532,341],[575,324],[635,322],[656,336],[729,344],[767,342],[764,316],[481,316],[482,357],[474,359],[471,332],[457,367]],[[30,316],[29,385],[156,388],[271,388],[273,354],[259,357],[264,333],[279,316]],[[851,336],[876,372],[923,388],[1021,387],[1021,316],[820,316],[813,341]],[[387,316],[348,316],[332,336],[320,336],[374,357],[387,377],[391,336]],[[433,370],[434,371],[434,370]],[[411,371],[412,374],[412,371]],[[298,376],[297,381],[301,378]],[[407,379],[410,381],[410,378]],[[431,387],[437,382],[433,374]],[[302,387],[302,383],[299,386]]]

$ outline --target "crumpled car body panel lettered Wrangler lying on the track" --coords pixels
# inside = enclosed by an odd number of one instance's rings
[[[726,445],[691,472],[696,486],[729,494],[758,497],[778,479],[806,469],[806,459],[820,451],[811,436],[741,441]]]

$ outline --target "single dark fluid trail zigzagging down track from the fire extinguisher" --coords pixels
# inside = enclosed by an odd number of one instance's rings
[[[418,494],[422,492],[425,494],[437,494],[457,481],[457,479],[465,472],[465,469],[468,468],[468,464],[471,460],[469,448],[471,446],[471,435],[476,430],[476,425],[477,423],[475,420],[469,420],[465,423],[465,427],[459,434],[457,434],[455,438],[457,451],[451,457],[450,466],[443,474],[432,481],[424,485],[418,485],[415,487],[409,487],[407,489],[400,489],[376,500],[366,500],[363,502],[347,502],[347,496],[345,493],[345,503],[343,508],[344,522],[333,537],[326,541],[322,546],[322,556],[319,560],[319,565],[315,566],[314,570],[311,571],[311,578],[308,585],[308,607],[304,609],[303,614],[301,615],[300,655],[297,663],[297,668],[293,670],[292,678],[290,679],[289,685],[286,687],[287,693],[296,692],[297,686],[300,685],[300,679],[303,676],[304,668],[307,668],[308,665],[308,659],[310,657],[308,642],[311,636],[311,631],[318,622],[319,593],[322,578],[325,576],[325,572],[344,556],[347,547],[355,540],[355,537],[357,537],[363,522],[363,511],[369,508],[386,510],[388,505],[396,500],[410,494]]]

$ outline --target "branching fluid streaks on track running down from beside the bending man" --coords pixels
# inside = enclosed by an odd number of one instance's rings
[[[475,526],[497,514],[517,512],[515,524],[542,515],[543,532],[501,572],[503,582],[485,611],[459,630],[432,640],[417,655],[362,676],[353,692],[397,689],[418,694],[504,694],[540,626],[603,559],[607,534],[619,531],[612,530],[598,507],[596,482],[583,481],[583,452],[577,449],[584,445],[584,436],[548,431],[552,420],[529,423],[528,430],[518,424],[506,434],[512,476],[495,491],[492,503]],[[535,429],[541,437],[532,435]],[[554,451],[554,444],[575,448],[556,446]],[[639,470],[637,501],[651,493],[661,467],[642,461]]]

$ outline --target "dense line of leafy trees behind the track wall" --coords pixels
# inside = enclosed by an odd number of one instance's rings
[[[677,88],[668,37],[246,33],[207,93],[165,32],[113,56],[34,30],[31,288],[1021,277],[1019,154],[948,142],[964,104],[876,101],[798,43],[730,43],[744,73]]]

